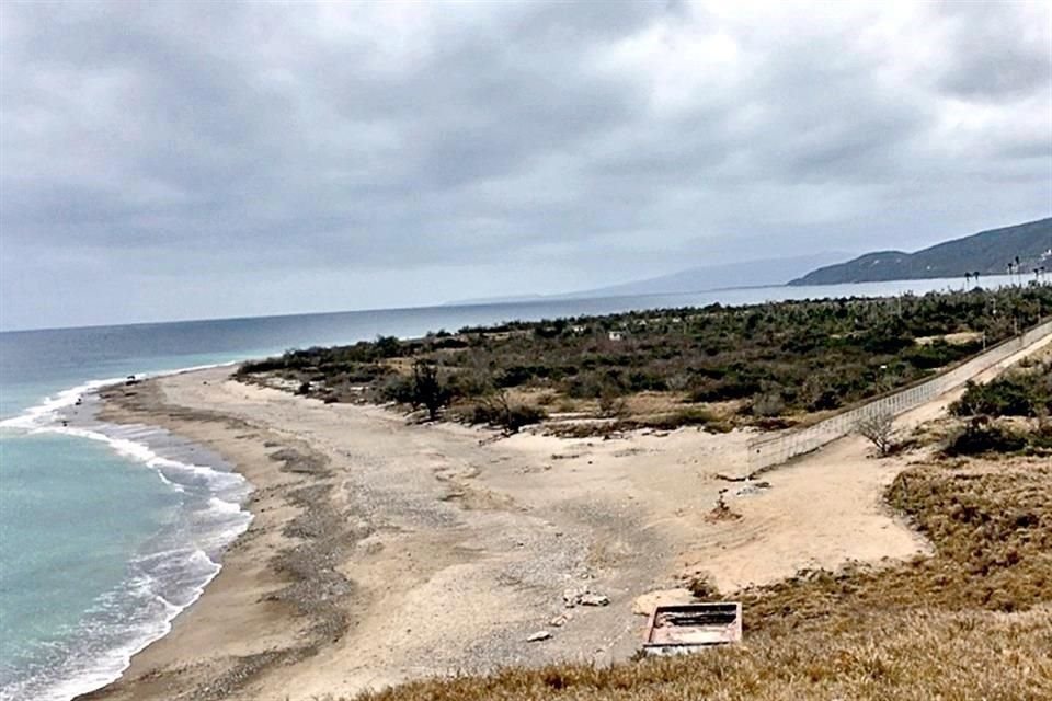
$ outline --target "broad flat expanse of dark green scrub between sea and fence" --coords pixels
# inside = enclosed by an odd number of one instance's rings
[[[397,401],[431,416],[453,406],[508,429],[554,411],[663,427],[717,415],[762,423],[917,381],[1034,323],[1041,309],[1052,309],[1050,287],[712,304],[380,337],[289,350],[240,372],[325,401]],[[641,395],[653,401],[633,406]]]

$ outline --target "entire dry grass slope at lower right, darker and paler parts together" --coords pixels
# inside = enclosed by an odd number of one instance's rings
[[[595,668],[423,680],[358,701],[1052,699],[1052,464],[929,464],[888,501],[936,547],[744,594],[745,642]]]

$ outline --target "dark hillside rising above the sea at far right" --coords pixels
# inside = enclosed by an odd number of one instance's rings
[[[946,241],[915,253],[879,251],[847,263],[820,267],[790,285],[838,285],[931,277],[963,277],[965,273],[1004,275],[1019,258],[1024,274],[1052,268],[1052,218]]]

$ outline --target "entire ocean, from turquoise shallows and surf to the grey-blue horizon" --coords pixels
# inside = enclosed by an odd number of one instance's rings
[[[998,284],[1009,279],[984,280]],[[68,701],[119,677],[201,595],[251,520],[251,486],[218,455],[160,428],[92,418],[105,383],[501,321],[961,287],[767,287],[0,333],[0,700]]]

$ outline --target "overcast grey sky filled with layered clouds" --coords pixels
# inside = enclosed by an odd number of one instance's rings
[[[562,292],[1050,214],[1050,2],[0,3],[2,329]]]

